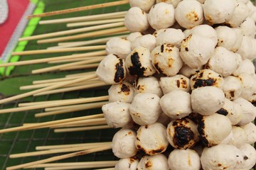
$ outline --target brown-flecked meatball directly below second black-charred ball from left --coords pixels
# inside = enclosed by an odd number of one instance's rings
[[[159,80],[156,77],[141,77],[134,83],[135,94],[139,93],[151,93],[157,96],[163,96]]]

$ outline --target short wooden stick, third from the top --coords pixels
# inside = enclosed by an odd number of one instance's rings
[[[118,22],[124,22],[124,17],[122,18],[114,18],[114,19],[103,19],[103,20],[97,20],[97,21],[85,21],[85,22],[79,22],[79,23],[68,23],[67,27],[77,27],[77,26],[93,26],[98,25],[102,23],[118,23]]]

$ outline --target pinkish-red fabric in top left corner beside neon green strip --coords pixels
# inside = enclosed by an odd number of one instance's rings
[[[8,0],[9,16],[5,23],[0,25],[0,57],[28,4],[29,0]]]

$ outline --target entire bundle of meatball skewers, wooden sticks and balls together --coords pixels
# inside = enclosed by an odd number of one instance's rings
[[[101,6],[125,3],[128,1]],[[33,81],[33,85],[21,89],[36,90],[0,103],[111,85],[108,96],[20,103],[18,108],[0,111],[44,108],[45,112],[36,113],[38,118],[91,108],[102,108],[102,113],[25,124],[0,133],[37,128],[54,128],[55,132],[121,128],[109,142],[43,146],[37,147],[36,152],[12,154],[10,157],[16,158],[71,152],[7,169],[252,169],[256,163],[252,147],[256,142],[256,126],[252,123],[256,117],[256,75],[252,63],[256,58],[256,7],[247,0],[130,0],[129,4],[131,8],[124,12],[42,21],[83,21],[68,26],[89,27],[21,38],[61,43],[47,50],[13,55],[95,51],[0,64],[6,67],[59,63],[33,70],[33,74],[97,68],[59,79]],[[39,16],[70,11],[75,9]],[[87,31],[92,32],[83,33]],[[82,34],[65,36],[72,33]],[[64,36],[53,38],[59,35]],[[108,37],[63,42],[100,35]],[[118,162],[50,163],[108,149],[119,158]]]

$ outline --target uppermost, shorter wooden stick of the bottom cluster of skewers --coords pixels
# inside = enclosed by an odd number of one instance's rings
[[[104,142],[106,144],[111,144],[112,142]],[[70,147],[80,147],[80,146],[99,146],[102,142],[92,142],[92,143],[80,143],[80,144],[68,144],[68,145],[48,145],[48,146],[38,146],[36,150],[48,150],[48,149],[61,149]]]

